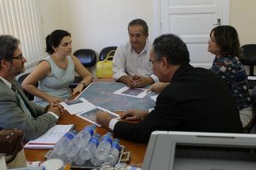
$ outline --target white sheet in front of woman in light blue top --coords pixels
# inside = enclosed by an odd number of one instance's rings
[[[84,113],[90,111],[96,106],[91,104],[88,100],[84,98],[79,99],[70,99],[67,101],[61,102],[61,105],[66,109],[71,115]]]

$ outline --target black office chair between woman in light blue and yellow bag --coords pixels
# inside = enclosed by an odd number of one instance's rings
[[[96,53],[92,49],[78,49],[73,53],[73,55],[76,56],[85,67],[91,67],[96,65]],[[82,77],[74,77],[74,81],[69,86],[69,88],[75,88],[81,81]]]

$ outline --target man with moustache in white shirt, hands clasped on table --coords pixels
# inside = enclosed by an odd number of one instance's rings
[[[117,48],[113,57],[113,79],[130,88],[143,88],[157,82],[149,62],[148,25],[144,20],[131,20],[128,25],[130,42]]]

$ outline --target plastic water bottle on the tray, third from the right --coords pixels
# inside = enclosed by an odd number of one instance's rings
[[[79,154],[74,158],[74,162],[77,165],[83,165],[85,161],[90,160],[90,157],[94,155],[94,152],[99,145],[100,138],[101,136],[99,134],[95,134],[90,138],[86,147],[82,148],[82,150],[79,151]]]

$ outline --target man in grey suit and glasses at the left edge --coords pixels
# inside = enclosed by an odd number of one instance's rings
[[[20,41],[12,36],[0,36],[0,127],[19,128],[25,139],[36,139],[61,117],[57,106],[46,108],[33,104],[15,81],[25,71],[26,59],[19,47]]]

